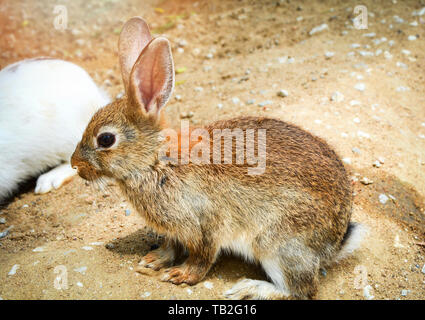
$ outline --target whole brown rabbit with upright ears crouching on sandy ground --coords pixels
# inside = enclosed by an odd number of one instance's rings
[[[226,297],[313,297],[319,269],[357,248],[364,231],[350,223],[350,183],[335,152],[297,126],[245,117],[218,121],[206,130],[266,130],[263,174],[248,174],[246,160],[162,161],[160,149],[167,142],[160,110],[174,86],[169,42],[152,39],[147,24],[132,18],[121,32],[119,56],[126,97],[93,116],[72,166],[87,180],[115,179],[147,225],[165,236],[140,264],[162,269],[163,281],[192,285],[205,277],[220,252],[229,251],[259,263],[271,282],[246,279]],[[180,146],[183,136],[179,139]],[[181,249],[188,257],[173,266]]]

